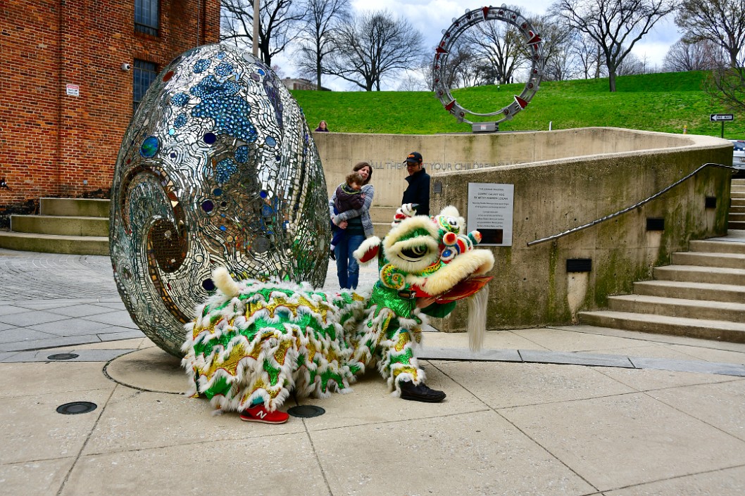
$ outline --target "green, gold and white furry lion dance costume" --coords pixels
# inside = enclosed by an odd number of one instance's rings
[[[402,206],[382,241],[368,238],[355,252],[362,264],[378,259],[379,279],[370,292],[235,282],[226,269],[216,270],[218,291],[186,325],[183,366],[192,394],[221,411],[262,403],[272,412],[293,390],[298,397],[348,392],[356,376],[376,364],[399,395],[402,381],[425,380],[414,356],[423,314],[441,317],[466,296],[471,346],[478,349],[493,255],[474,249],[481,235],[462,232],[465,222],[454,207],[434,217],[413,213]],[[437,299],[419,310],[422,297]]]

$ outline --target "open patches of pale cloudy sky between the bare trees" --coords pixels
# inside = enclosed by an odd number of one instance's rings
[[[460,17],[466,12],[466,8],[471,10],[489,5],[488,2],[469,1],[469,0],[376,0],[374,7],[371,6],[370,0],[351,0],[352,9],[360,10],[390,10],[399,16],[408,19],[414,28],[418,29],[425,37],[427,48],[432,48],[440,42],[442,30],[450,27],[454,18]],[[515,0],[504,2],[508,5],[517,5],[523,7],[525,13],[542,14],[548,10],[551,0]],[[492,5],[497,6],[502,3],[494,2]],[[678,28],[673,22],[673,16],[659,21],[653,31],[644,36],[634,47],[633,54],[640,60],[647,60],[650,66],[662,66],[662,60],[668,52],[668,48],[680,38]],[[294,77],[297,74],[288,74],[293,71],[289,63],[278,63],[288,70],[285,71],[285,77]],[[340,81],[332,82],[324,79],[324,86],[329,86],[337,91],[349,90],[352,87],[349,83]],[[385,89],[396,89],[395,86]]]

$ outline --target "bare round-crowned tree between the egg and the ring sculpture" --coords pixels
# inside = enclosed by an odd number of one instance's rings
[[[324,74],[367,91],[380,91],[381,80],[392,71],[416,68],[423,55],[422,34],[387,10],[353,16],[333,38],[334,50]]]

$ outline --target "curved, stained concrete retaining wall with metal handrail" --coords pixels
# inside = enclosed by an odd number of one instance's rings
[[[726,233],[729,172],[708,168],[633,212],[545,244],[563,232],[625,209],[706,162],[732,163],[732,144],[708,136],[615,128],[490,135],[353,135],[316,133],[329,194],[361,160],[375,168],[375,206],[396,206],[405,188],[405,156],[418,150],[432,174],[431,212],[468,207],[469,182],[515,187],[512,247],[492,248],[489,328],[573,322],[578,311],[603,308],[607,296],[630,293],[670,263],[691,239]],[[705,208],[716,197],[715,209]],[[647,231],[647,217],[665,231]],[[466,219],[467,221],[467,219]],[[591,258],[589,273],[567,273],[567,258]],[[460,305],[461,307],[465,305]],[[434,325],[463,330],[463,310]]]

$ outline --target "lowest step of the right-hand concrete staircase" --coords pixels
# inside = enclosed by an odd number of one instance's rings
[[[686,319],[665,315],[636,314],[633,312],[580,312],[580,322],[628,331],[698,337],[707,340],[745,343],[745,323],[726,320]]]

